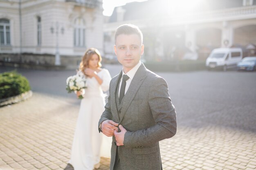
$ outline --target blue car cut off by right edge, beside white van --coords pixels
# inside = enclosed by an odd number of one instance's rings
[[[256,71],[256,57],[245,57],[237,64],[237,71]]]

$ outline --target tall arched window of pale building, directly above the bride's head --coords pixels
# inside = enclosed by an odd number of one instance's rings
[[[76,18],[74,23],[74,46],[85,46],[85,22]]]

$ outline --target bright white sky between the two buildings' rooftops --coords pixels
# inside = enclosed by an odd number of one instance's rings
[[[110,16],[115,7],[125,5],[128,2],[142,2],[146,0],[103,0],[103,15]]]

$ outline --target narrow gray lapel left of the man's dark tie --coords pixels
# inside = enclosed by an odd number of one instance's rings
[[[118,114],[118,110],[117,110],[117,102],[116,102],[117,100],[119,101],[117,87],[118,87],[119,79],[122,76],[122,73],[123,72],[121,71],[119,73],[119,75],[117,76],[117,79],[115,80],[115,84],[114,84],[113,88],[111,89],[111,94],[110,94],[111,95],[111,103],[114,103],[114,106],[115,106],[115,108],[113,108],[115,110],[115,114],[113,115],[113,117],[117,117],[118,120],[120,120],[120,119],[119,119],[119,114]],[[112,114],[113,114],[113,112],[112,112]]]

